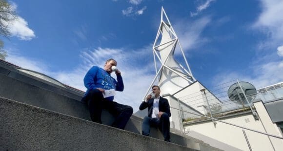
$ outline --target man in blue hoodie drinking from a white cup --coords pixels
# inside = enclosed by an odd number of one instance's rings
[[[133,108],[114,102],[114,96],[103,97],[105,90],[124,90],[121,72],[115,71],[117,81],[110,75],[113,72],[112,66],[117,66],[117,61],[110,58],[106,61],[103,69],[97,66],[90,68],[83,78],[87,91],[81,101],[88,105],[92,121],[101,123],[101,111],[105,109],[116,117],[111,126],[124,129],[133,113]]]

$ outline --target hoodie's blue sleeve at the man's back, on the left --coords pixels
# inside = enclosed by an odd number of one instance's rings
[[[87,90],[92,90],[98,88],[95,83],[95,77],[97,75],[98,67],[93,66],[89,69],[89,71],[86,73],[86,75],[83,78],[84,86],[87,88]]]

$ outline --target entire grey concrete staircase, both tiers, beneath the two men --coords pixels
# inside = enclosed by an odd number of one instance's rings
[[[220,151],[173,129],[172,143],[163,141],[162,133],[154,128],[150,137],[142,136],[142,118],[135,115],[126,131],[107,126],[113,117],[105,111],[104,125],[91,122],[81,103],[83,92],[40,76],[0,62],[1,151]]]

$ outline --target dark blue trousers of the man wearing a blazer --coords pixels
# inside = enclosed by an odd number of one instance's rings
[[[163,113],[160,119],[145,116],[142,122],[142,134],[148,136],[151,126],[158,127],[163,132],[164,140],[170,141],[170,121],[167,113]]]

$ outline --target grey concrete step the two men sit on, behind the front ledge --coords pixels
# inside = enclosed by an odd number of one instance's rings
[[[1,64],[0,64],[1,65]],[[7,70],[9,69],[9,70]],[[85,120],[90,120],[90,115],[85,104],[81,103],[82,94],[71,90],[59,88],[54,84],[42,82],[32,76],[22,74],[16,69],[1,68],[0,66],[0,96],[28,105],[36,106],[57,113],[71,115]],[[105,125],[112,124],[114,118],[103,111],[101,117]],[[126,131],[140,134],[142,132],[142,118],[132,115],[128,121]],[[219,151],[203,141],[189,137],[180,132],[171,130],[171,142],[202,151]],[[155,128],[151,129],[150,137],[163,140],[163,135]]]

